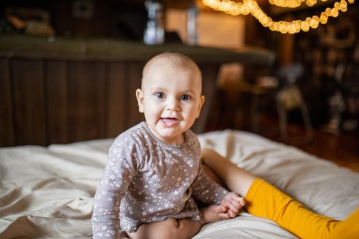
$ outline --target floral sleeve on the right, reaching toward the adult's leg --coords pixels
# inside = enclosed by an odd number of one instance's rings
[[[209,178],[209,175],[203,171],[202,165],[198,169],[198,175],[191,188],[192,195],[207,204],[219,204],[228,193],[226,188]]]

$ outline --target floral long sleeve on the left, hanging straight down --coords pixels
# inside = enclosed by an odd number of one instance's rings
[[[105,173],[94,197],[93,238],[120,237],[120,202],[137,167],[136,145],[118,138],[111,145]]]

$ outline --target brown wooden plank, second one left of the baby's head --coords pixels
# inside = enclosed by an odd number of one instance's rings
[[[127,84],[125,65],[123,63],[110,63],[108,66],[107,85],[107,135],[116,137],[126,130],[127,126]]]

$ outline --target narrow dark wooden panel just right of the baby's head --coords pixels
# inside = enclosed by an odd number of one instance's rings
[[[212,99],[215,93],[215,81],[217,81],[217,73],[220,68],[220,64],[206,64],[199,65],[199,67],[202,71],[202,94],[204,95],[205,100],[200,117],[196,119],[194,126],[191,127],[191,130],[196,133],[204,132],[204,129],[206,128],[209,110],[211,109]]]

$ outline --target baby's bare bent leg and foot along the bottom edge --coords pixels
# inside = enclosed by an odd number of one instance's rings
[[[137,231],[127,233],[131,239],[189,239],[200,231],[206,223],[220,221],[220,214],[226,212],[226,207],[211,205],[202,208],[202,221],[190,219],[167,219],[158,223],[147,223],[139,226]]]

